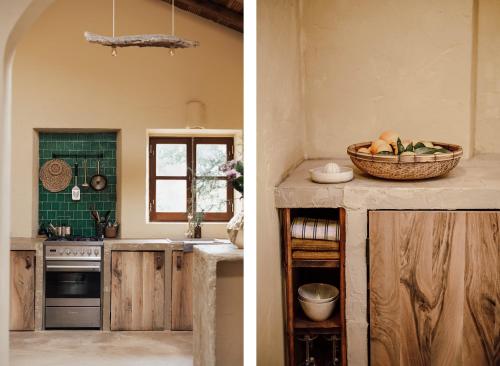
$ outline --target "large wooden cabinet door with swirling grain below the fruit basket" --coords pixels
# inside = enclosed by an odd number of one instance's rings
[[[500,364],[500,212],[369,213],[372,365]]]

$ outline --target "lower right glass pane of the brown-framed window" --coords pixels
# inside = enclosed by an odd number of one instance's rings
[[[227,182],[220,179],[196,180],[196,211],[226,212]]]

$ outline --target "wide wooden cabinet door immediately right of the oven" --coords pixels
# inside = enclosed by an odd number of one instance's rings
[[[163,330],[165,253],[111,254],[111,330]]]

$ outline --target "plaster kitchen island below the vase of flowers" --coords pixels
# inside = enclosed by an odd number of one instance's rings
[[[200,245],[194,254],[194,365],[241,365],[243,250]]]

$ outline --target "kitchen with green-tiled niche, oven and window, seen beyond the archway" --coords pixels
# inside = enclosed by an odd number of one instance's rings
[[[65,365],[75,350],[82,365],[242,362],[243,254],[227,233],[242,195],[219,169],[243,159],[238,4],[228,25],[161,0],[56,0],[19,42],[12,365]],[[198,47],[84,37],[168,33],[174,15]]]

